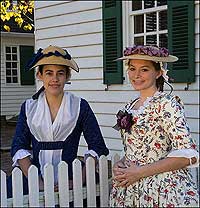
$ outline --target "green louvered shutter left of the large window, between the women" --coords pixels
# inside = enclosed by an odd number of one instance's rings
[[[114,61],[122,56],[122,1],[103,3],[103,74],[104,84],[123,83],[123,63]]]

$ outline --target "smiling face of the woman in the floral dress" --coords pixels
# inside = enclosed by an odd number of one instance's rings
[[[157,90],[156,79],[162,74],[156,71],[152,61],[147,60],[130,60],[128,66],[128,76],[135,90]]]

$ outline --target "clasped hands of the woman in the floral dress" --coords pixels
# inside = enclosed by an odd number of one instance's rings
[[[128,187],[141,179],[140,167],[133,162],[125,164],[126,168],[116,167],[117,173],[114,179],[118,182],[117,186]]]

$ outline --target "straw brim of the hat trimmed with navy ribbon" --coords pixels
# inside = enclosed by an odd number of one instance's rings
[[[74,61],[74,59],[64,59],[59,56],[49,56],[49,57],[44,57],[41,60],[39,60],[31,69],[37,67],[37,66],[42,66],[42,65],[62,65],[62,66],[68,66],[71,69],[75,70],[76,72],[79,72],[79,67],[77,63]]]

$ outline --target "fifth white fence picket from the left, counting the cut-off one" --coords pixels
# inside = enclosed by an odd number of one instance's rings
[[[68,165],[64,161],[58,165],[58,187],[60,207],[69,207]]]

